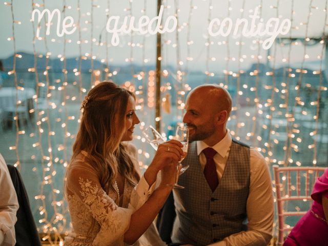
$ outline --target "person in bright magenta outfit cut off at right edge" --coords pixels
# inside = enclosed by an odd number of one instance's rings
[[[328,245],[328,168],[314,185],[311,209],[293,228],[283,246]]]

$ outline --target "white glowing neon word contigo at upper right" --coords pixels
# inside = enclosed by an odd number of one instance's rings
[[[269,36],[262,43],[262,47],[265,50],[270,49],[274,40],[279,34],[287,34],[290,31],[292,25],[290,19],[283,19],[279,26],[279,18],[269,18],[266,24],[264,24],[262,21],[256,24],[257,19],[260,19],[260,16],[258,15],[258,7],[254,9],[254,13],[249,15],[249,17],[251,18],[250,27],[248,19],[236,19],[233,35],[236,36],[240,32],[239,28],[242,28],[241,34],[245,37]],[[216,32],[213,31],[215,24],[218,26],[218,30]],[[226,37],[230,35],[232,31],[232,25],[233,21],[229,17],[223,18],[221,22],[220,19],[213,18],[209,24],[209,34],[211,36],[221,35]]]

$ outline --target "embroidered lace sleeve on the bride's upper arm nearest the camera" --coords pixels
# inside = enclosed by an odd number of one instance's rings
[[[73,167],[67,174],[66,189],[68,196],[77,196],[86,206],[92,217],[99,223],[100,231],[94,239],[96,245],[109,245],[124,236],[129,228],[133,209],[116,205],[100,186],[92,168]],[[70,210],[83,208],[71,208]],[[72,212],[72,211],[71,211]]]

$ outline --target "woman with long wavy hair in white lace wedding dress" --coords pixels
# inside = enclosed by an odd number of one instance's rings
[[[174,182],[179,141],[159,145],[140,175],[133,139],[134,95],[111,82],[90,90],[66,172],[65,197],[73,230],[69,246],[165,245],[152,223]],[[155,188],[157,173],[161,181]]]

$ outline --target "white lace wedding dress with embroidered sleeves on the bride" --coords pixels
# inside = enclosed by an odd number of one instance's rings
[[[129,145],[135,168],[139,171],[135,149]],[[117,186],[105,192],[95,170],[88,165],[87,153],[81,152],[70,164],[65,183],[65,197],[71,215],[72,231],[65,238],[66,246],[122,246],[124,233],[129,228],[131,214],[144,204],[154,190],[142,176],[135,187],[125,182],[124,193]],[[150,228],[134,246],[161,246],[158,232]]]

